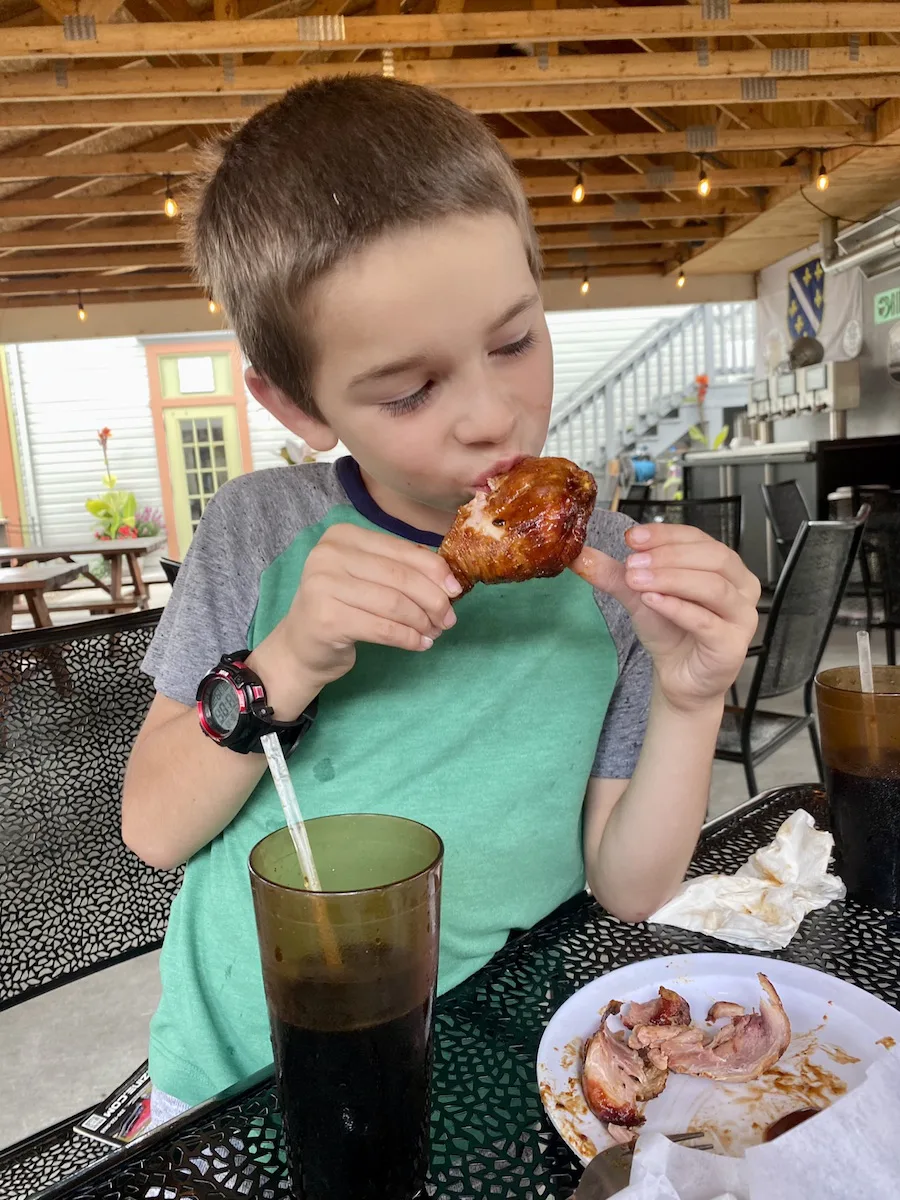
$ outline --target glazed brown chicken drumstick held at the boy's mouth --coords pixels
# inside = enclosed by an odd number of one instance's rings
[[[551,578],[581,553],[595,500],[593,475],[568,458],[523,458],[463,504],[438,553],[463,594]]]

